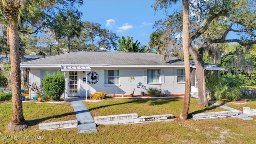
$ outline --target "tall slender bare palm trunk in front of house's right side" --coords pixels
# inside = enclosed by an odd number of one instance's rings
[[[188,118],[188,109],[190,104],[190,63],[189,63],[189,7],[188,0],[182,0],[183,5],[183,36],[182,36],[182,45],[184,52],[184,65],[185,65],[185,94],[182,105],[182,111],[180,113],[180,118],[185,120]]]

